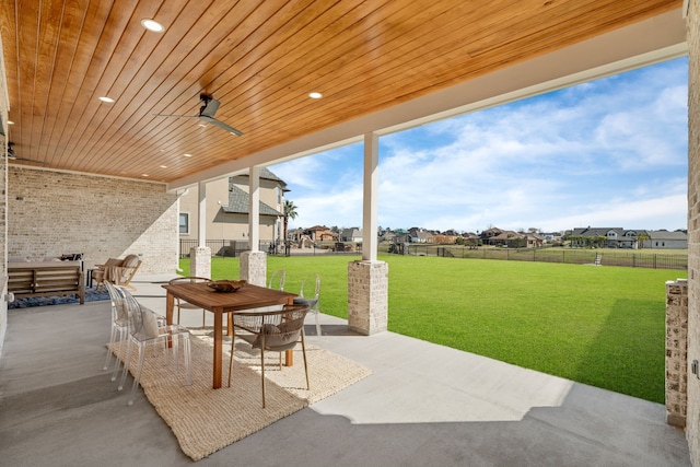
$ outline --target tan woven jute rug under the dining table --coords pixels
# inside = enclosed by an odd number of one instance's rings
[[[186,385],[184,366],[175,374],[173,362],[165,364],[162,352],[155,349],[148,350],[140,383],[151,405],[173,430],[183,453],[199,460],[372,373],[349,359],[310,345],[308,340],[311,390],[306,390],[301,346],[294,351],[294,365],[283,366],[281,371],[279,354],[266,354],[265,409],[260,354],[243,340],[236,339],[232,383],[228,387],[231,340],[224,338],[223,387],[212,389],[213,338],[207,329],[192,330],[191,386]],[[133,355],[131,372],[136,370],[136,359]]]

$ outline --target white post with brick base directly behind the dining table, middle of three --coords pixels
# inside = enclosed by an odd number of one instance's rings
[[[254,285],[267,283],[267,254],[259,250],[260,244],[260,167],[252,166],[248,206],[248,252],[241,254],[241,279]]]

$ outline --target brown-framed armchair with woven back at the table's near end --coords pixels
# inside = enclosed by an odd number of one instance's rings
[[[306,305],[284,305],[282,310],[271,312],[236,312],[231,313],[233,335],[231,336],[231,357],[229,359],[229,387],[233,373],[233,353],[235,338],[248,342],[253,349],[260,349],[260,384],[262,387],[262,408],[265,408],[265,352],[280,352],[280,371],[282,353],[291,350],[299,342],[304,355],[304,373],[306,389],[308,385],[308,366],[306,364],[306,345],[304,343],[304,318],[308,313]]]

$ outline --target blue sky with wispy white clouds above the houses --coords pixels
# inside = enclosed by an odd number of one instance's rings
[[[686,229],[688,60],[380,138],[382,227]],[[270,168],[290,227],[362,225],[362,143]]]

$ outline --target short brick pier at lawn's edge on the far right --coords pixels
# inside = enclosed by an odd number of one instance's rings
[[[666,282],[666,422],[684,428],[687,407],[688,281],[678,279]]]

